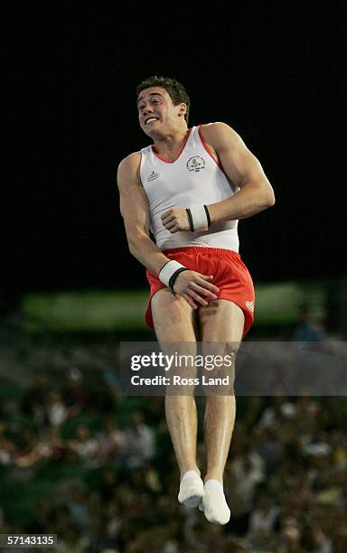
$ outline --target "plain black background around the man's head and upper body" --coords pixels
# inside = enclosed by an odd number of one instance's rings
[[[191,125],[224,121],[258,156],[274,208],[239,223],[256,282],[344,274],[338,3],[3,2],[3,295],[145,286],[117,164],[148,145],[135,88],[173,76]],[[335,251],[334,251],[335,250]]]

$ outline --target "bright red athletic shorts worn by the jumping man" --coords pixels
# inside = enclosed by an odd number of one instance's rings
[[[166,249],[163,253],[167,258],[175,259],[184,267],[202,273],[202,275],[213,275],[211,284],[220,288],[217,293],[218,299],[227,299],[239,305],[245,315],[243,335],[245,336],[249,332],[254,320],[254,286],[249,271],[238,252],[223,248],[188,246]],[[166,288],[166,286],[151,270],[146,269],[145,274],[151,287],[149,303],[145,312],[145,323],[153,330],[152,297],[158,290]],[[204,299],[210,302],[212,298],[204,296]]]

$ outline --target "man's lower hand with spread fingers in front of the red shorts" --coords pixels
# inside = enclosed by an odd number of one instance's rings
[[[206,277],[196,271],[182,271],[174,281],[174,293],[181,295],[192,309],[197,309],[198,306],[195,302],[202,305],[208,304],[203,296],[217,299],[216,294],[220,289],[211,284],[212,278],[212,276]]]

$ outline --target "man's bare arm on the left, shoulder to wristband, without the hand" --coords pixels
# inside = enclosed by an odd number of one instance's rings
[[[141,154],[128,155],[118,166],[120,212],[127,232],[130,253],[155,273],[170,261],[149,236],[149,206],[140,182]]]

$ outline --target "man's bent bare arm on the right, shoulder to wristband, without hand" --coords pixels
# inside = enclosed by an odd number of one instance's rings
[[[211,223],[246,219],[275,203],[275,194],[257,157],[225,123],[202,127],[203,137],[216,151],[224,172],[239,192],[207,206]]]

